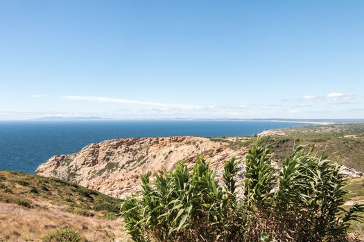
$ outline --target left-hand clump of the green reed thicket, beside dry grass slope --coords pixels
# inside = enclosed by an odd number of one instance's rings
[[[236,162],[227,177],[234,179]],[[130,197],[122,205],[126,227],[135,241],[215,241],[221,228],[232,221],[241,221],[234,211],[234,191],[223,191],[218,186],[209,165],[200,157],[192,174],[187,166],[178,163],[175,171],[155,174],[155,183],[150,183],[150,174],[141,176],[143,197]],[[231,188],[231,180],[226,180]],[[231,204],[231,205],[227,205]],[[241,221],[242,223],[242,221]],[[234,225],[235,234],[226,232],[226,237],[236,239],[242,235]],[[236,230],[235,230],[236,229]],[[231,236],[230,236],[231,235]]]

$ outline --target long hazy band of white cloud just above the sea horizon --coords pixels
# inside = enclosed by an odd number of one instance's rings
[[[37,93],[35,91],[34,93]],[[311,94],[311,93],[308,93]],[[314,94],[314,95],[312,95]],[[102,95],[56,95],[33,94],[27,98],[35,98],[31,104],[41,103],[42,109],[22,109],[0,111],[1,120],[33,119],[48,117],[101,117],[112,119],[155,119],[155,118],[341,118],[349,117],[343,111],[355,111],[355,118],[362,118],[360,112],[363,101],[361,95],[342,92],[312,93],[311,95],[296,95],[286,100],[272,100],[273,102],[254,100],[246,97],[233,97],[232,102],[219,100],[185,99],[194,104],[168,103],[162,101],[162,96],[143,95],[146,100],[125,99],[119,97],[105,97]],[[140,96],[140,95],[138,95]],[[153,102],[159,98],[161,102]],[[44,98],[46,102],[38,102]],[[66,102],[66,100],[69,100]],[[37,101],[37,102],[35,102]],[[96,104],[99,103],[99,104]],[[60,106],[53,110],[53,106]],[[48,109],[47,109],[48,107]],[[51,107],[51,108],[49,108]],[[346,107],[347,109],[341,110]],[[10,109],[11,110],[11,109]],[[52,111],[51,111],[52,110]],[[337,115],[340,113],[340,115]],[[345,112],[348,113],[348,112]]]

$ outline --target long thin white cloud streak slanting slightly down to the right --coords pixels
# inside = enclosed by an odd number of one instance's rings
[[[164,106],[170,108],[178,108],[178,109],[197,109],[199,106],[189,105],[189,104],[165,104],[161,102],[147,102],[147,101],[137,101],[137,100],[128,100],[123,98],[110,98],[110,97],[98,97],[98,96],[61,96],[60,98],[65,100],[83,100],[83,101],[91,101],[91,102],[113,102],[113,103],[122,103],[122,104],[141,104],[146,106]]]

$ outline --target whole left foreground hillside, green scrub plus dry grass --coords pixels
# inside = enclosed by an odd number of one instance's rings
[[[41,241],[64,227],[87,241],[123,236],[121,201],[58,178],[0,171],[0,241]]]

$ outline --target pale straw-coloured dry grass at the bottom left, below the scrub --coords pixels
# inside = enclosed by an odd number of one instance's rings
[[[105,220],[85,217],[56,208],[28,209],[15,204],[0,203],[0,241],[40,241],[47,232],[71,227],[87,241],[122,239],[121,219]]]

